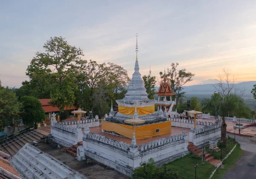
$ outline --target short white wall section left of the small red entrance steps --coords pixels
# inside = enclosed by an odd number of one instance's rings
[[[83,132],[80,125],[72,128],[61,123],[55,123],[51,126],[51,138],[53,142],[65,147],[71,147],[72,145],[76,145],[77,142],[82,141]]]

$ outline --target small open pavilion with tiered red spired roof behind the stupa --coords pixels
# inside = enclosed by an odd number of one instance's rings
[[[176,105],[176,99],[172,101],[172,95],[175,95],[172,92],[172,88],[170,83],[166,79],[165,71],[163,80],[160,83],[160,87],[157,93],[158,100],[155,105],[157,105],[157,111],[162,111],[162,107],[164,107],[164,114],[168,116],[169,114],[176,114],[176,112],[172,111],[174,105]],[[170,97],[170,101],[166,100],[166,97]],[[161,100],[163,98],[163,101]]]

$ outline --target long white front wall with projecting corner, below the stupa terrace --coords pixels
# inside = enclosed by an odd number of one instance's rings
[[[138,146],[135,137],[128,145],[99,134],[91,134],[89,128],[85,129],[83,137],[84,154],[115,170],[131,176],[133,170],[153,157],[156,165],[162,165],[180,158],[187,153],[188,139],[183,134]],[[81,153],[81,152],[79,152]],[[79,158],[83,158],[79,156]]]

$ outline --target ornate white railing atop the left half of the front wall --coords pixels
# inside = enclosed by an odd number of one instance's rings
[[[102,135],[99,135],[99,134],[94,134],[94,133],[85,134],[84,133],[83,138],[84,139],[93,139],[93,140],[96,140],[98,142],[102,142],[104,144],[111,145],[112,147],[117,148],[117,149],[121,149],[123,151],[127,151],[128,148],[129,148],[129,145],[125,142],[119,142],[119,141],[116,141],[116,140],[113,140],[113,139],[109,139],[109,138],[107,138],[105,136],[102,136]]]

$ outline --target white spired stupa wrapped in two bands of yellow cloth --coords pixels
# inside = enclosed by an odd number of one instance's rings
[[[138,45],[136,43],[136,60],[134,74],[128,86],[128,91],[123,99],[116,100],[118,112],[111,113],[102,121],[102,131],[114,135],[133,137],[134,127],[126,124],[126,119],[142,119],[144,124],[136,126],[136,138],[167,134],[171,132],[171,122],[167,121],[163,111],[154,111],[155,100],[148,99],[144,81],[139,71]]]

